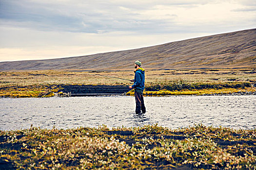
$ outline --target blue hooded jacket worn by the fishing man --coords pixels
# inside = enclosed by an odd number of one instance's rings
[[[140,90],[144,90],[145,88],[145,69],[138,68],[135,72],[134,76],[134,84],[132,85],[133,88],[137,88]]]

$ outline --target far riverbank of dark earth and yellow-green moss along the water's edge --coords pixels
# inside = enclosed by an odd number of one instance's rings
[[[188,89],[186,86],[178,90],[167,90],[165,86],[148,86],[143,92],[145,96],[170,96],[170,95],[256,95],[255,84],[239,83],[226,88],[218,85],[218,88]],[[194,86],[194,85],[190,85]],[[209,85],[210,86],[210,85]],[[237,86],[237,87],[236,87]],[[74,96],[106,96],[106,95],[134,95],[128,85],[40,85],[40,86],[9,86],[0,88],[0,97],[24,98],[24,97],[74,97]]]

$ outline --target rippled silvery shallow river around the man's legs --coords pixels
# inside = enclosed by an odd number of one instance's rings
[[[0,130],[29,128],[109,128],[156,124],[170,128],[202,123],[256,128],[256,96],[144,97],[147,112],[135,114],[132,96],[0,99]]]

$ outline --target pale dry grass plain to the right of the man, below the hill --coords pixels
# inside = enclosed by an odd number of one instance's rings
[[[256,73],[240,69],[219,70],[160,70],[147,72],[147,85],[185,84],[224,84],[238,82],[256,82]]]

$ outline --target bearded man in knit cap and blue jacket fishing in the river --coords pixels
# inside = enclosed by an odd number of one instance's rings
[[[145,88],[145,69],[141,68],[141,62],[136,61],[134,62],[134,68],[136,68],[134,80],[130,80],[131,82],[134,82],[133,85],[130,85],[129,88],[135,88],[135,102],[136,102],[136,113],[140,113],[140,110],[142,113],[146,112],[146,107],[144,105],[144,99],[143,99],[143,90]]]

